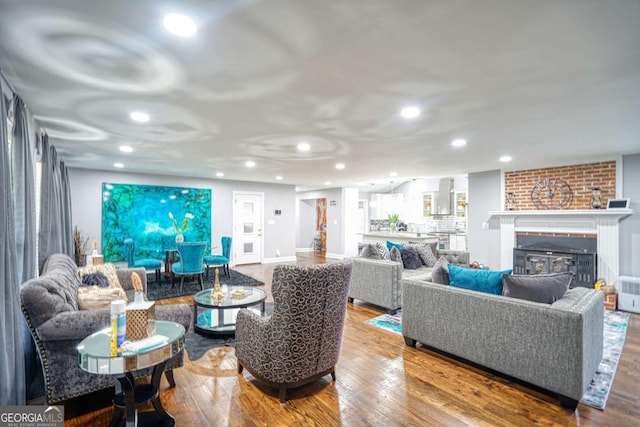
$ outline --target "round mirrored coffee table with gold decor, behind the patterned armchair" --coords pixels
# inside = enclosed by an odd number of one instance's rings
[[[193,330],[201,335],[235,335],[236,317],[242,308],[260,305],[265,314],[267,293],[253,286],[221,287],[224,298],[212,298],[212,289],[205,289],[193,296]],[[257,310],[256,310],[257,311]]]

